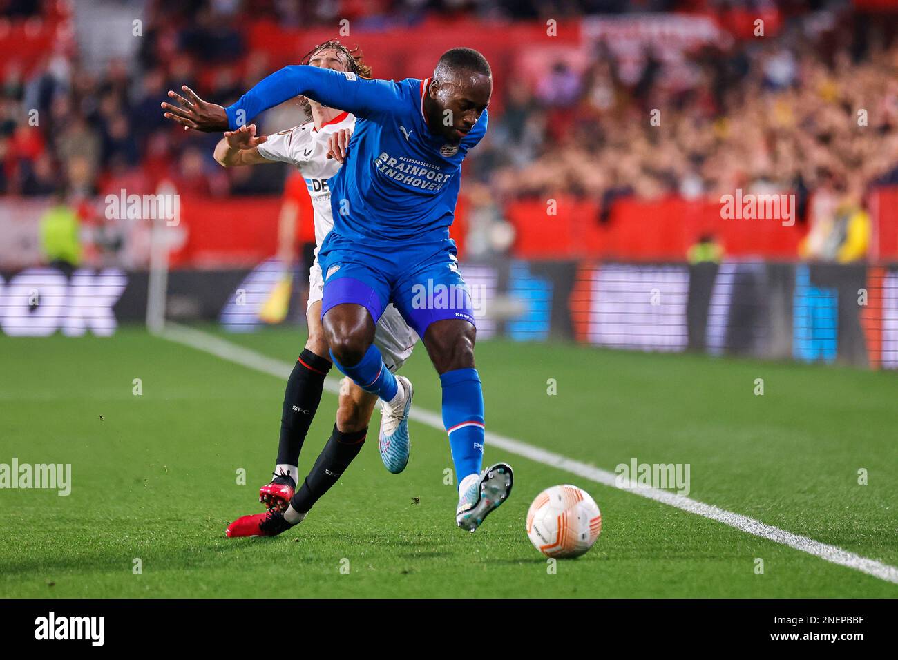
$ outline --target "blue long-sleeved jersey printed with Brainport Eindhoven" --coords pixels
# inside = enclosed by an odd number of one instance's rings
[[[462,160],[487,130],[487,112],[447,143],[424,117],[427,80],[365,80],[317,66],[286,66],[226,108],[230,128],[304,95],[357,117],[346,163],[330,182],[334,232],[371,247],[445,241]]]

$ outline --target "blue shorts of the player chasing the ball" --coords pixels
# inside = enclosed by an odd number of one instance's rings
[[[321,318],[331,307],[353,303],[365,307],[376,323],[392,303],[422,338],[434,321],[475,325],[471,292],[455,254],[452,239],[374,251],[330,232],[318,254],[324,276]]]

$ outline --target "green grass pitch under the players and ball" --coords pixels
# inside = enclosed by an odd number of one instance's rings
[[[286,329],[221,336],[285,363],[304,341]],[[482,342],[478,367],[497,433],[609,471],[632,458],[689,463],[690,497],[898,565],[895,374],[506,341]],[[423,348],[404,373],[415,405],[438,411]],[[283,392],[280,379],[144,330],[0,337],[0,463],[71,463],[73,481],[68,497],[0,490],[0,595],[898,595],[898,585],[489,444],[486,462],[510,462],[515,490],[478,532],[462,532],[444,484],[445,433],[412,422],[409,467],[392,475],[376,450],[378,413],[357,461],[304,523],[274,539],[226,539],[233,518],[261,511]],[[301,474],[335,407],[326,392]],[[593,495],[603,532],[552,574],[524,515],[541,489],[569,482]]]

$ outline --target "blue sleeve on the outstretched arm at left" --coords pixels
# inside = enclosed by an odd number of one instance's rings
[[[367,80],[319,66],[285,66],[225,108],[228,128],[234,130],[295,96],[308,96],[362,118],[401,106],[400,87],[392,81]]]

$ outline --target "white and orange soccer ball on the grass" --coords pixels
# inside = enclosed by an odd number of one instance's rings
[[[577,486],[546,488],[527,512],[527,536],[546,557],[579,557],[602,532],[602,512]]]

